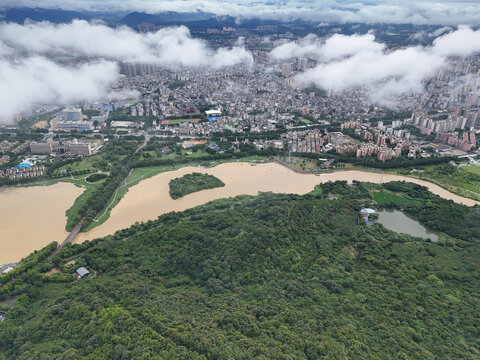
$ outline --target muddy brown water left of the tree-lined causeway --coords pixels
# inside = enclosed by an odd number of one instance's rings
[[[0,264],[67,237],[65,211],[83,189],[70,183],[0,189]]]

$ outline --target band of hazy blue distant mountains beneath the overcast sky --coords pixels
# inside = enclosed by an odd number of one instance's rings
[[[0,0],[1,4],[1,0]],[[162,12],[157,14],[148,14],[144,12],[119,12],[119,11],[68,11],[61,9],[43,9],[43,8],[7,8],[0,6],[0,22],[16,22],[23,24],[25,20],[32,21],[50,21],[52,23],[68,23],[73,19],[83,20],[103,20],[109,26],[126,25],[132,29],[138,30],[138,25],[149,23],[156,26],[178,26],[186,25],[194,34],[203,33],[206,29],[222,29],[223,27],[247,28],[252,32],[267,34],[268,31],[261,30],[259,27],[265,25],[277,25],[275,32],[291,32],[296,36],[302,37],[309,33],[318,36],[331,36],[335,33],[352,35],[366,34],[374,31],[378,41],[391,46],[406,45],[429,45],[432,38],[414,38],[412,34],[420,31],[431,33],[440,26],[435,25],[412,25],[412,24],[364,24],[364,23],[331,23],[319,26],[314,22],[292,20],[276,21],[269,19],[236,19],[232,16],[217,16],[213,13],[202,11],[178,13],[174,11]]]

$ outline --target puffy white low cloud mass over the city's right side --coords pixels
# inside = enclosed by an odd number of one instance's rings
[[[460,27],[438,37],[430,47],[388,51],[371,34],[334,35],[325,42],[309,35],[278,46],[271,56],[280,60],[300,55],[315,58],[315,68],[295,77],[301,86],[314,83],[334,92],[364,87],[373,101],[387,104],[399,94],[422,91],[422,80],[434,75],[448,57],[476,52],[480,52],[480,30]]]

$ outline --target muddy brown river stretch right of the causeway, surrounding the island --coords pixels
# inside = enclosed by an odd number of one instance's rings
[[[173,200],[169,194],[169,181],[194,171],[216,176],[225,183],[225,187],[203,190]],[[313,190],[315,185],[337,180],[346,180],[350,183],[353,180],[372,183],[406,180],[427,186],[430,191],[446,199],[469,206],[476,203],[475,200],[450,193],[438,185],[399,175],[352,170],[316,176],[314,174],[296,173],[277,163],[257,165],[241,162],[224,163],[208,169],[185,167],[140,182],[129,189],[125,197],[111,211],[110,218],[105,223],[89,232],[80,233],[75,242],[80,243],[113,234],[119,229],[133,225],[136,221],[154,220],[161,214],[183,211],[215,199],[241,194],[255,195],[259,191],[305,194]]]

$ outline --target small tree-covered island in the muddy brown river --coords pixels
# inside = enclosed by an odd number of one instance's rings
[[[170,180],[168,185],[172,199],[178,199],[200,190],[225,186],[225,183],[213,175],[195,172]]]

